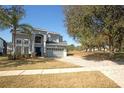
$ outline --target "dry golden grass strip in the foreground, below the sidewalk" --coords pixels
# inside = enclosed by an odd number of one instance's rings
[[[0,87],[6,88],[119,88],[100,72],[75,72],[29,76],[0,77]]]

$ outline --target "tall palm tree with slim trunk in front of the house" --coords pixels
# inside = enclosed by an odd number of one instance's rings
[[[31,34],[33,27],[29,24],[20,24],[20,20],[24,17],[25,10],[23,6],[0,6],[0,28],[10,29],[13,34],[13,54],[15,57],[15,38],[17,31],[23,31]]]

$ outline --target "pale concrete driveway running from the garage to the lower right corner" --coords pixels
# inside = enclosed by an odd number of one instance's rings
[[[98,70],[124,88],[124,62],[118,63],[110,60],[94,61],[74,56],[68,56],[57,60],[79,65],[91,71]]]

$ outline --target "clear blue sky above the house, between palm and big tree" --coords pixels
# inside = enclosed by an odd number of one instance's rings
[[[46,29],[50,32],[57,32],[63,36],[63,39],[68,44],[77,43],[67,34],[66,27],[64,26],[64,14],[62,6],[24,6],[26,15],[21,23],[28,23],[36,28]],[[0,31],[0,37],[6,41],[11,41],[11,33],[9,30]]]

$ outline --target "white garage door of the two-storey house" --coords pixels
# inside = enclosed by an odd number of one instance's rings
[[[48,57],[63,57],[64,56],[64,49],[47,49],[47,56]]]

